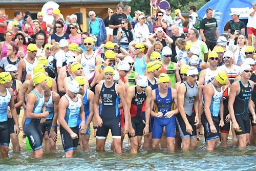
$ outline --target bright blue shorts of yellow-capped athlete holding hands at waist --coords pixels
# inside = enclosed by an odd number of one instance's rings
[[[163,114],[164,117],[164,114]],[[167,138],[175,138],[175,121],[176,116],[172,116],[168,119],[166,118],[155,118],[153,129],[152,129],[152,138],[161,139],[163,134],[163,127],[165,126],[165,135]]]

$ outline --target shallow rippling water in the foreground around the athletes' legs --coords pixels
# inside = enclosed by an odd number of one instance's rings
[[[217,146],[216,151],[206,152],[203,141],[194,152],[177,151],[169,154],[167,149],[145,151],[140,149],[136,155],[129,154],[130,146],[124,142],[123,153],[111,152],[106,143],[106,153],[83,153],[81,148],[74,158],[67,159],[62,146],[57,146],[56,155],[45,154],[42,159],[31,159],[31,152],[22,147],[22,153],[13,154],[10,149],[8,159],[0,159],[1,170],[256,170],[256,147],[244,149],[234,147],[231,142],[227,148]]]

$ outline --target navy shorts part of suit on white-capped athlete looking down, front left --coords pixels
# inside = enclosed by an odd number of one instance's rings
[[[78,145],[78,140],[79,140],[79,134],[78,134],[78,127],[71,127],[70,128],[74,133],[77,134],[78,138],[76,139],[72,139],[70,134],[63,129],[63,127],[60,125],[59,126],[59,132],[60,132],[60,136],[61,136],[61,142],[62,142],[62,146],[65,152],[74,150],[77,148]]]

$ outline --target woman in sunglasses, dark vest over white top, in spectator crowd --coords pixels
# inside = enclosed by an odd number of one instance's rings
[[[129,43],[134,40],[135,32],[131,28],[131,24],[127,18],[122,19],[122,28],[118,29],[117,40],[119,45],[126,51],[129,51]]]

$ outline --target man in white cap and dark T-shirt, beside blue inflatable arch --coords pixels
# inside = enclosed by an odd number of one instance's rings
[[[230,13],[232,20],[230,20],[228,25],[227,34],[232,38],[233,36],[238,36],[239,34],[245,34],[245,24],[239,20],[239,12],[234,11]],[[237,32],[237,34],[235,34]],[[237,45],[237,38],[234,39],[234,44]]]

